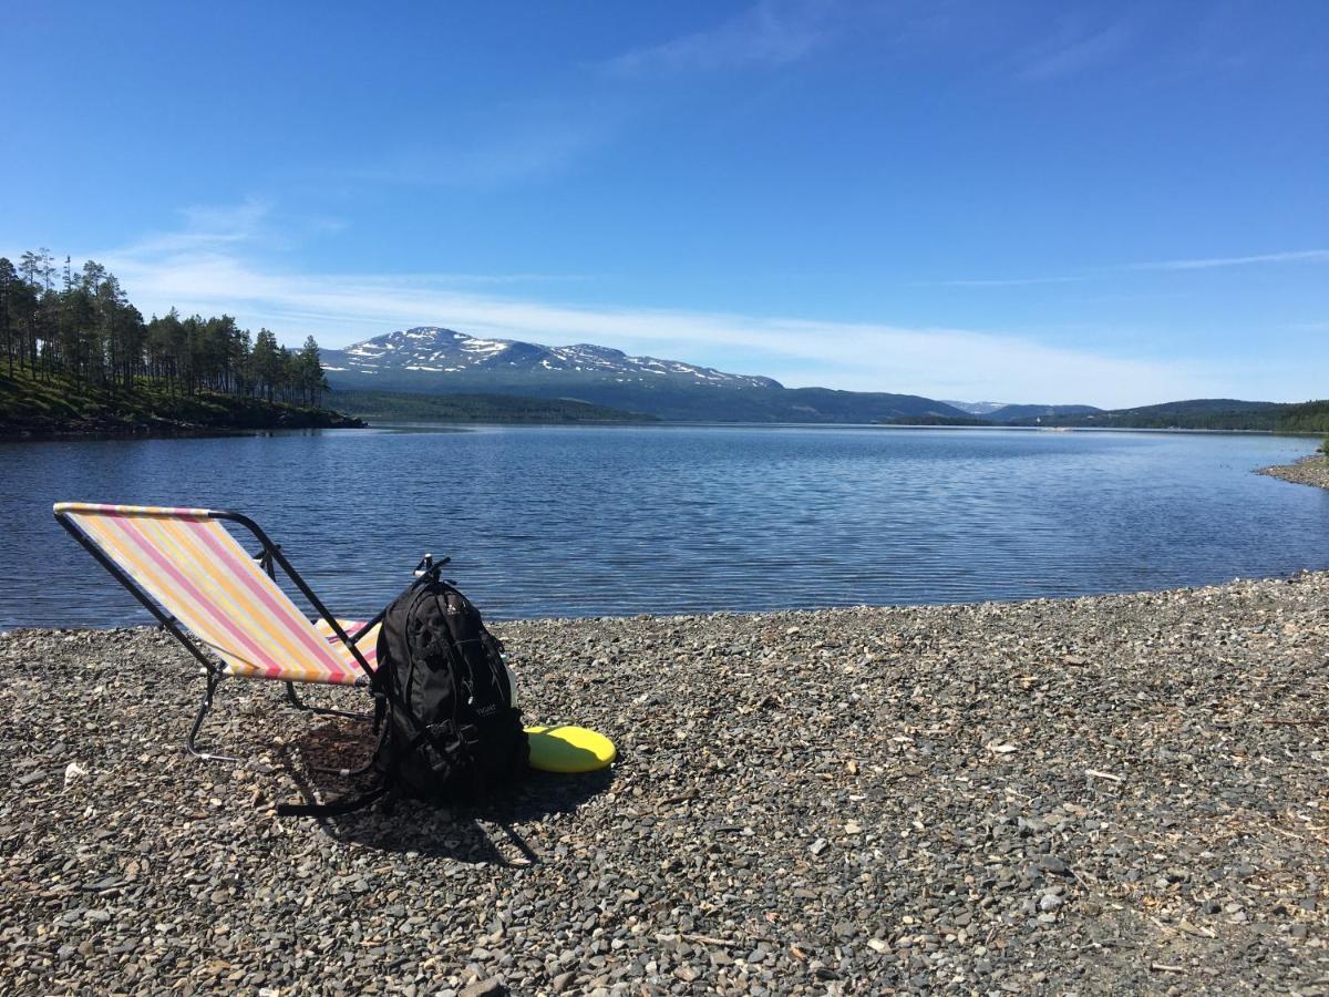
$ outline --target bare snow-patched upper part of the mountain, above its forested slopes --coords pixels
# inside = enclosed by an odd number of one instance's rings
[[[602,346],[550,347],[513,339],[478,339],[439,326],[417,326],[346,350],[324,350],[323,368],[334,382],[354,379],[358,387],[384,388],[388,387],[384,382],[401,387],[407,378],[421,383],[417,389],[424,389],[423,382],[437,382],[437,389],[445,389],[530,378],[569,386],[601,380],[618,384],[670,380],[679,387],[684,383],[718,388],[780,387],[769,378],[724,374],[654,356],[629,356]]]

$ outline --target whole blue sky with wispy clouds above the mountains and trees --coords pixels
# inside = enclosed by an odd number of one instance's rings
[[[0,253],[324,346],[1329,396],[1329,4],[11,4]]]

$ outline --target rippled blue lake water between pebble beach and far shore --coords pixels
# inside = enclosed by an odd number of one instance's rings
[[[420,554],[496,618],[953,602],[1329,568],[1305,439],[880,428],[330,431],[0,444],[0,627],[140,623],[56,500],[233,508],[338,613]]]

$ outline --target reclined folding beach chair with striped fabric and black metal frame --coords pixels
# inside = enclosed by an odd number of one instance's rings
[[[295,683],[368,686],[383,614],[363,622],[334,617],[253,520],[217,509],[89,502],[57,502],[54,516],[203,666],[207,687],[185,739],[191,755],[238,760],[197,744],[217,686],[231,675],[284,682],[287,701],[300,710],[368,719],[308,706]],[[258,552],[247,553],[227,522],[249,530]],[[428,557],[421,565],[441,566]],[[276,568],[308,600],[316,622],[276,584]]]

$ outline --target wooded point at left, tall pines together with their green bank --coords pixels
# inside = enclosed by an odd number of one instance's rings
[[[93,261],[0,257],[0,431],[137,432],[354,424],[322,412],[312,336],[300,350],[230,315],[144,320]]]

